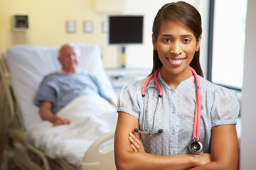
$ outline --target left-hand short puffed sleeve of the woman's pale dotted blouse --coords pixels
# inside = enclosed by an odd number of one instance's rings
[[[117,111],[139,118],[142,107],[142,92],[139,82],[124,86],[117,101]]]

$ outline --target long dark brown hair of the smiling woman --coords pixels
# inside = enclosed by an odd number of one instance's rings
[[[202,35],[202,26],[201,26],[201,15],[196,10],[195,7],[191,6],[190,4],[178,1],[174,3],[165,4],[156,14],[154,18],[153,24],[153,36],[154,40],[157,40],[157,36],[159,34],[159,29],[161,26],[161,22],[165,20],[173,20],[183,23],[185,26],[190,28],[193,31],[193,34],[196,36],[196,41],[199,40],[200,36]],[[196,70],[196,73],[203,77],[203,71],[201,69],[200,61],[200,48],[197,52],[195,52],[193,56],[193,60],[190,63],[190,66]],[[156,71],[159,67],[163,64],[159,60],[159,55],[157,50],[154,50],[153,53],[153,69],[152,73]]]

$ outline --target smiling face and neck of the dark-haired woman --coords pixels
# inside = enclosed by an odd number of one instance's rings
[[[161,23],[157,40],[154,40],[154,50],[157,50],[163,67],[161,75],[176,75],[191,77],[189,64],[193,55],[198,51],[201,37],[198,42],[193,31],[183,23],[166,20]]]

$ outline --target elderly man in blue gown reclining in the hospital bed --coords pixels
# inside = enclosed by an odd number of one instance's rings
[[[97,77],[78,69],[80,56],[73,45],[60,47],[58,60],[62,69],[46,76],[36,94],[36,106],[40,107],[43,120],[50,121],[54,126],[69,124],[69,120],[59,118],[55,114],[78,96],[101,96],[117,107],[107,88],[100,84]]]

